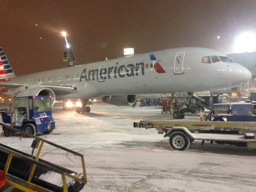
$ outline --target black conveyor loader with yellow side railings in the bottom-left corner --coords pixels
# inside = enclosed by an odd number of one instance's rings
[[[0,172],[7,175],[4,188],[0,191],[25,191],[25,192],[79,192],[86,184],[86,170],[84,156],[78,152],[57,145],[53,142],[28,134],[7,124],[0,123],[12,132],[19,132],[26,137],[34,138],[31,147],[32,154],[10,148],[0,143]],[[52,162],[40,159],[40,153],[44,144],[50,148],[63,150],[60,154],[70,153],[81,160],[82,173],[56,165]],[[34,150],[37,150],[34,156]],[[44,150],[46,152],[46,150]]]

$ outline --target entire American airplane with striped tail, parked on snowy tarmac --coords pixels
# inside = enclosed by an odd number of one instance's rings
[[[225,54],[208,48],[172,48],[112,60],[15,76],[0,47],[0,86],[6,94],[80,99],[76,112],[90,112],[90,98],[132,105],[136,94],[198,92],[238,86],[252,74]],[[2,69],[2,70],[1,70]]]

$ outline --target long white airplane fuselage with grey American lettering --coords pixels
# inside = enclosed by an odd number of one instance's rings
[[[150,54],[156,59],[152,60]],[[202,63],[205,56],[226,55],[206,48],[175,48],[18,76],[10,82],[72,85],[76,86],[75,91],[70,94],[56,92],[56,98],[88,99],[106,95],[217,90],[250,80],[251,73],[243,66],[234,62]]]

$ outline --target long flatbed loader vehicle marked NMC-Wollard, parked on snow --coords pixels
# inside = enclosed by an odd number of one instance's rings
[[[194,140],[256,148],[256,122],[140,121],[135,128],[155,128],[169,137],[172,150],[187,150]]]

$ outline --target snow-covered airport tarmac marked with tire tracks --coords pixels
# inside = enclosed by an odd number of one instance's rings
[[[133,128],[140,120],[173,120],[160,107],[90,106],[88,114],[55,104],[56,129],[40,137],[84,154],[88,183],[82,192],[250,192],[256,190],[256,151],[192,142],[172,151],[155,129]],[[184,120],[200,120],[185,116]],[[31,153],[31,138],[0,136],[0,142]],[[72,154],[44,146],[40,158],[82,172]]]

